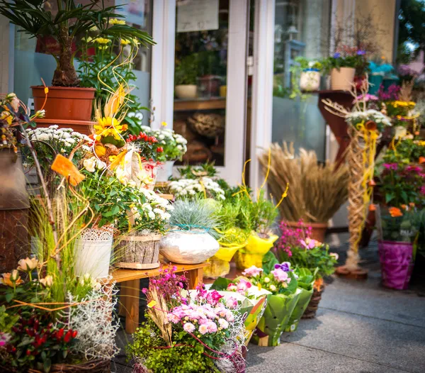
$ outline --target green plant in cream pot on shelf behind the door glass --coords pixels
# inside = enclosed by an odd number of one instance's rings
[[[198,57],[194,53],[176,61],[174,84],[178,99],[195,99],[197,93]]]

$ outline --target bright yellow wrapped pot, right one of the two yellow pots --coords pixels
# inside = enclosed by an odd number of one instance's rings
[[[239,249],[234,257],[237,269],[246,269],[253,265],[261,268],[264,255],[273,247],[277,239],[277,235],[261,238],[257,233],[251,234],[246,246]]]

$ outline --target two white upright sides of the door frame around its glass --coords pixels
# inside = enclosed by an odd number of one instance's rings
[[[249,0],[229,1],[227,48],[227,95],[225,125],[225,167],[217,167],[229,184],[242,181],[246,136],[246,54]],[[154,0],[152,37],[151,98],[152,128],[165,121],[169,128],[174,117],[174,45],[176,39],[176,0]]]

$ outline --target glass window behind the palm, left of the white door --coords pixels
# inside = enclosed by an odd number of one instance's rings
[[[79,4],[86,4],[89,0],[79,0]],[[152,0],[109,0],[106,6],[123,5],[118,13],[129,25],[152,33]],[[55,13],[56,1],[46,1],[45,7]],[[84,35],[79,35],[81,39]],[[79,53],[79,38],[74,45],[76,54]],[[21,32],[15,27],[15,54],[14,54],[14,91],[23,102],[32,96],[30,86],[40,85],[42,78],[48,86],[55,72],[56,62],[50,52],[57,50],[57,42],[52,37],[30,38],[30,35]],[[142,106],[149,107],[150,99],[150,71],[152,48],[140,47],[134,62],[133,72],[136,89],[132,91],[140,99]],[[79,63],[74,61],[76,69]],[[149,125],[149,116],[145,113],[144,125]]]

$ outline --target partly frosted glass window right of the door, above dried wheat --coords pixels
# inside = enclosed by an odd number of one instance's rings
[[[325,123],[317,94],[290,99],[290,67],[298,56],[326,57],[329,52],[330,0],[276,0],[273,77],[273,142],[325,157]]]

